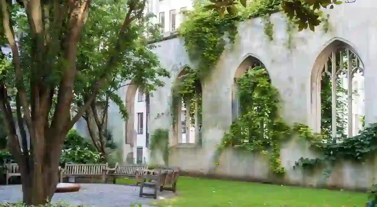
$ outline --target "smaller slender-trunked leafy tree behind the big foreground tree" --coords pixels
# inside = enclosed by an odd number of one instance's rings
[[[76,81],[75,105],[82,107],[92,93],[91,85],[95,84],[98,72],[106,64],[106,51],[108,40],[114,36],[127,13],[123,7],[124,2],[115,1],[109,5],[109,1],[98,1],[92,5],[91,12],[83,29],[83,35],[79,44],[79,55],[77,70],[80,76]],[[103,18],[107,16],[107,18]],[[127,111],[121,97],[115,92],[125,87],[127,81],[139,85],[146,91],[152,91],[156,86],[163,86],[164,83],[158,76],[169,76],[166,70],[159,68],[157,56],[152,52],[153,44],[148,41],[159,37],[159,29],[149,22],[153,15],[148,14],[138,21],[130,24],[129,37],[132,37],[128,46],[118,56],[122,61],[112,72],[106,88],[100,88],[98,96],[92,101],[82,115],[86,120],[89,135],[98,152],[105,160],[108,157],[106,149],[106,120],[110,100],[118,105],[123,119],[127,119]],[[147,35],[144,35],[147,34]],[[77,111],[76,111],[77,112]]]

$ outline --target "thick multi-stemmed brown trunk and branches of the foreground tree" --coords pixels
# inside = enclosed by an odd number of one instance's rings
[[[103,61],[90,73],[90,94],[71,117],[76,81],[80,81],[83,73],[77,67],[78,45],[81,38],[89,38],[83,37],[81,31],[93,15],[90,5],[97,1],[19,0],[18,6],[12,5],[11,0],[1,0],[0,43],[7,43],[11,48],[12,65],[2,67],[6,69],[1,71],[0,77],[0,110],[8,132],[9,151],[20,166],[23,201],[27,205],[44,204],[54,195],[66,134],[98,93],[108,87],[113,72],[124,60],[120,54],[136,38],[134,23],[141,21],[146,1],[128,0],[124,5],[127,12],[116,25],[117,32],[109,34],[106,40]],[[20,10],[15,12],[18,7]],[[25,14],[25,18],[15,19],[14,15],[19,13]],[[19,47],[14,28],[22,26],[27,33]],[[3,51],[1,59],[6,60]],[[15,100],[15,113],[10,100]],[[29,148],[26,131],[31,140]]]

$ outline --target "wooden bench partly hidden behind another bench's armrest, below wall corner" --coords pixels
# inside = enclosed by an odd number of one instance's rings
[[[116,178],[118,177],[135,178],[136,180],[136,172],[144,169],[147,169],[147,166],[138,164],[119,165],[116,163],[114,168],[106,170],[105,179],[107,180],[107,177],[111,177],[113,179],[113,184],[116,183]],[[135,183],[137,185],[137,181]]]

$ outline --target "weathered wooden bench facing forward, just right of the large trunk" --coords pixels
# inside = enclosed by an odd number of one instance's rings
[[[63,183],[63,177],[67,176],[102,176],[103,181],[106,179],[106,171],[109,169],[108,164],[73,164],[66,163],[64,169],[60,169],[60,183]]]

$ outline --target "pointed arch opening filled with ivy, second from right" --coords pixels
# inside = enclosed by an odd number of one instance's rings
[[[270,145],[276,138],[278,91],[259,59],[248,56],[237,68],[232,85],[233,122],[225,144],[248,149]]]

